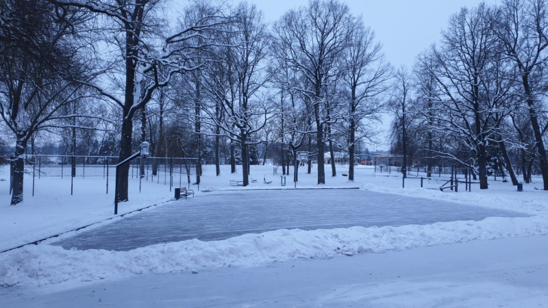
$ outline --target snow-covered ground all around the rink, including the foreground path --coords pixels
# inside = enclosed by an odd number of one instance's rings
[[[424,188],[419,179],[408,179],[406,188],[401,188],[401,176],[393,171],[380,173],[358,166],[356,181],[349,182],[341,175],[347,170],[340,167],[338,177],[327,176],[327,183],[319,186],[314,170],[307,175],[301,168],[297,188],[359,188],[333,192],[364,196],[371,192],[371,200],[365,197],[365,201],[373,203],[374,195],[382,204],[384,198],[387,210],[389,201],[397,200],[402,209],[439,209],[445,219],[375,227],[333,223],[323,229],[273,228],[225,240],[182,240],[130,251],[82,251],[51,244],[146,217],[175,203],[201,208],[207,216],[210,211],[203,210],[207,204],[229,207],[234,204],[231,198],[246,196],[260,200],[264,189],[282,194],[280,189],[294,187],[292,176],[282,186],[273,166],[251,166],[251,177],[258,181],[242,188],[229,185],[230,180],[240,180],[239,173],[231,175],[223,166],[222,175],[215,177],[214,167],[206,166],[200,187],[190,184],[197,192],[195,198],[179,201],[172,201],[166,177],[142,181],[140,193],[139,180],[134,178],[130,179],[130,201],[119,207],[119,214],[130,213],[124,217],[114,216],[114,172],[110,172],[109,194],[99,172],[95,177],[76,178],[73,195],[70,177],[36,178],[32,196],[30,175],[25,178],[25,202],[17,207],[9,206],[9,182],[2,181],[0,251],[60,236],[0,254],[0,306],[119,307],[127,300],[133,304],[126,307],[532,307],[548,303],[548,192],[538,189],[540,179],[524,184],[524,192],[491,179],[487,191],[479,191],[474,183],[471,192],[464,192],[462,185],[457,193],[440,192],[439,186],[447,181],[443,175],[425,180]],[[0,177],[9,178],[8,171],[3,170]],[[173,182],[178,184],[179,179]],[[247,189],[257,191],[246,195]],[[311,204],[325,191],[291,190],[290,198],[277,202],[286,207]],[[263,197],[265,203],[272,199],[266,192]],[[203,202],[208,199],[214,202]],[[488,214],[484,219],[453,219],[456,213],[442,206],[448,201],[472,205],[478,211],[516,211],[523,217]],[[341,207],[352,205],[346,199],[332,207],[323,205],[325,210]],[[295,220],[297,215],[301,214],[288,211],[288,219]],[[354,218],[330,216],[336,222]],[[299,225],[287,228],[292,227]],[[307,280],[310,277],[314,282]]]

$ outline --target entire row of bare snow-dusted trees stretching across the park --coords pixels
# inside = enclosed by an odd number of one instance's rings
[[[374,31],[342,1],[311,0],[270,25],[246,2],[167,5],[0,3],[3,140],[16,144],[12,204],[23,201],[24,158],[36,140],[121,160],[147,140],[155,157],[197,158],[197,183],[207,162],[217,175],[221,164],[232,172],[241,164],[244,185],[251,163],[275,158],[285,175],[297,151],[310,153],[323,184],[325,157],[336,176],[335,153],[345,151],[353,181],[382,112],[395,115],[404,175],[411,157],[429,172],[451,159],[475,168],[487,188],[499,158],[515,183],[512,164],[525,181],[539,168],[548,190],[544,1],[463,8],[411,71],[390,66]]]

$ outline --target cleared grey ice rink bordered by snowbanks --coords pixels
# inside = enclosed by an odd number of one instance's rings
[[[493,216],[527,215],[365,190],[208,192],[82,231],[55,245],[129,251],[152,244],[193,238],[224,240],[277,229],[401,226]]]

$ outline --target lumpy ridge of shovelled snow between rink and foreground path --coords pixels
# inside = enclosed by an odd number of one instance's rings
[[[188,240],[134,251],[64,250],[38,245],[0,255],[0,285],[119,279],[134,274],[195,272],[227,266],[258,266],[293,259],[382,253],[419,246],[548,234],[548,218],[486,218],[401,227],[352,227],[314,231],[277,230],[228,240]]]

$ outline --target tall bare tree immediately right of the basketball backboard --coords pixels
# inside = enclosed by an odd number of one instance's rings
[[[310,86],[297,90],[312,104],[319,184],[325,184],[325,125],[332,123],[325,86],[338,75],[338,57],[343,56],[355,27],[348,6],[336,0],[312,0],[306,7],[290,10],[274,25],[275,44],[287,50],[284,60]]]

